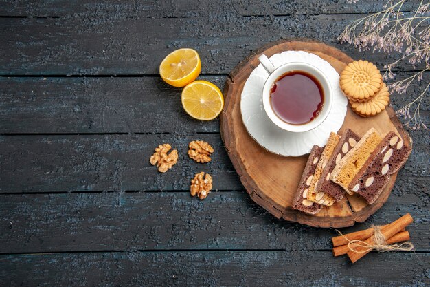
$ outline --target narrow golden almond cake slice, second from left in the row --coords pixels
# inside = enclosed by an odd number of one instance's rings
[[[319,204],[332,206],[333,203],[336,202],[335,198],[332,198],[330,195],[324,192],[317,192],[315,186],[318,184],[321,178],[321,173],[327,165],[328,159],[333,153],[337,142],[339,142],[339,136],[333,132],[330,133],[328,137],[326,147],[324,147],[324,151],[321,153],[321,157],[318,160],[317,168],[310,180],[309,191],[308,191],[308,200],[311,202],[316,202]]]

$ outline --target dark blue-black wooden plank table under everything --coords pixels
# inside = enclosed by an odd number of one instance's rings
[[[181,89],[158,75],[164,56],[192,47],[199,78],[223,88],[251,51],[286,37],[383,67],[393,58],[336,40],[383,1],[126,2],[0,3],[0,286],[429,286],[428,130],[409,130],[414,150],[383,208],[343,229],[409,212],[415,253],[352,265],[332,257],[334,230],[276,220],[253,203],[218,119],[192,120]],[[398,78],[419,68],[403,65]],[[429,100],[420,111],[429,125]],[[210,164],[188,159],[195,139],[214,146]],[[166,174],[149,164],[163,142],[179,149]],[[188,191],[198,171],[214,177],[203,201]]]

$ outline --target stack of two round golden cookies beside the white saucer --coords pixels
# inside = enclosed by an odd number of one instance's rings
[[[352,110],[360,116],[375,116],[389,103],[387,85],[378,68],[369,61],[349,63],[341,73],[340,85]]]

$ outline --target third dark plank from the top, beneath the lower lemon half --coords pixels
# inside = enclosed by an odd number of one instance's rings
[[[400,72],[398,79],[411,76]],[[223,89],[227,76],[201,76]],[[407,94],[392,94],[400,109],[414,100],[424,83],[414,82]],[[420,108],[430,123],[430,101]],[[0,77],[0,134],[219,132],[219,120],[190,118],[181,105],[181,89],[159,76],[116,78]],[[414,133],[410,132],[414,138]]]

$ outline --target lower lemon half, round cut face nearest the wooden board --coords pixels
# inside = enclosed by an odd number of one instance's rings
[[[223,93],[210,82],[194,81],[182,90],[182,106],[197,120],[213,120],[223,111]]]

